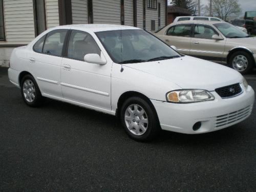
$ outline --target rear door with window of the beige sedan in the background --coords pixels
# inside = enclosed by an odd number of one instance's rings
[[[180,53],[189,54],[191,46],[191,24],[175,25],[167,29],[164,41],[175,46]]]

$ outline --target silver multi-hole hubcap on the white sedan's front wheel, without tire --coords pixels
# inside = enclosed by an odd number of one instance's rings
[[[138,104],[131,104],[127,107],[124,120],[127,129],[134,135],[143,135],[147,130],[147,114]]]

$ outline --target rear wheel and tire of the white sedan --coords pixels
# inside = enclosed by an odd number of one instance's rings
[[[20,90],[24,102],[32,107],[41,106],[45,98],[42,97],[41,92],[33,76],[25,75],[20,84]]]

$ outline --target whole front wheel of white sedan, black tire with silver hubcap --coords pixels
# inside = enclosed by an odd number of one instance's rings
[[[160,131],[155,109],[140,97],[130,97],[124,101],[120,118],[127,135],[137,141],[150,141]]]

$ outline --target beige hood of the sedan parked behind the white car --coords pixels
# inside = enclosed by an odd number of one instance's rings
[[[245,37],[245,38],[227,38],[227,44],[238,46],[245,46],[256,50],[256,37]]]

